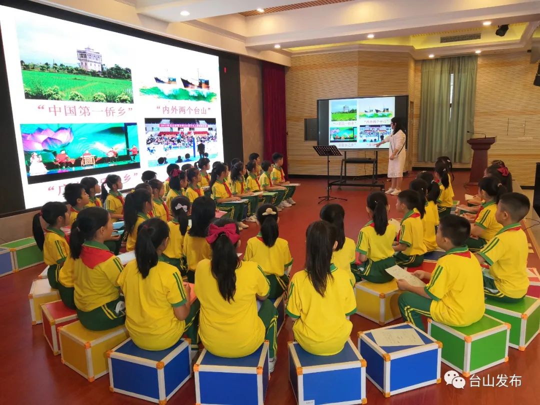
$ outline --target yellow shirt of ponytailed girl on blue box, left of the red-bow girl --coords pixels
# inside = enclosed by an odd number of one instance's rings
[[[178,342],[186,322],[174,316],[173,307],[185,305],[189,298],[176,267],[158,261],[143,279],[137,260],[132,260],[117,284],[126,300],[126,328],[138,347],[164,350]]]

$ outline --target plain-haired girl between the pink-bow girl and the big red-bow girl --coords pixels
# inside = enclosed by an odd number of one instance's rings
[[[191,228],[184,235],[182,252],[186,258],[187,281],[195,282],[195,269],[203,259],[212,257],[210,245],[206,242],[208,227],[215,218],[215,203],[210,197],[199,197],[191,206]]]

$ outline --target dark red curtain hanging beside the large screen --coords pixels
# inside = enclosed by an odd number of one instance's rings
[[[287,123],[285,117],[285,66],[262,63],[262,106],[264,111],[264,159],[272,153],[284,154],[283,170],[287,173]]]

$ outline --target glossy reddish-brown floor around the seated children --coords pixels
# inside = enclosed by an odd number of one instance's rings
[[[468,173],[456,173],[453,182],[457,193],[456,199],[463,200],[465,192],[463,185],[468,178]],[[405,179],[406,183],[411,180]],[[295,207],[288,208],[280,213],[280,236],[289,241],[294,257],[293,271],[302,268],[305,255],[305,232],[307,225],[319,218],[321,205],[317,204],[318,195],[325,194],[325,182],[322,180],[300,179],[299,187],[294,199],[298,203]],[[474,192],[474,190],[472,190]],[[339,191],[336,188],[332,194],[347,198],[348,201],[340,201],[346,210],[346,234],[356,240],[360,227],[367,222],[365,201],[368,189],[347,187]],[[395,197],[390,199],[390,216],[394,214]],[[29,230],[30,233],[30,230]],[[242,232],[243,246],[245,241],[257,233],[254,225],[249,230]],[[529,255],[529,266],[540,267],[538,252]],[[60,356],[53,356],[43,338],[42,325],[32,326],[28,304],[28,292],[32,280],[42,271],[44,266],[26,269],[22,272],[11,274],[0,279],[0,319],[2,320],[2,341],[0,345],[0,404],[4,403],[39,403],[46,404],[88,404],[99,403],[107,405],[113,403],[143,404],[145,401],[133,399],[121,394],[109,392],[109,377],[104,376],[93,383],[87,382],[83,377],[73,372],[60,363]],[[376,323],[361,318],[358,315],[351,316],[354,324],[351,335],[356,343],[356,334],[360,330],[368,330],[378,327]],[[395,323],[399,323],[396,321]],[[287,341],[293,339],[291,320],[288,319],[282,329],[278,341],[278,362],[275,372],[269,384],[266,395],[267,405],[294,404],[293,391],[288,381],[287,368]],[[478,375],[521,376],[522,386],[514,387],[470,387],[469,384],[460,390],[443,382],[434,386],[420,388],[408,393],[399,394],[389,399],[384,399],[382,394],[372,383],[367,381],[368,403],[384,405],[396,405],[401,403],[420,404],[470,404],[475,405],[494,403],[537,403],[534,399],[540,394],[538,389],[538,375],[540,374],[540,338],[532,342],[525,352],[509,349],[510,360],[508,363],[499,365]],[[449,368],[442,365],[442,375]],[[411,370],[421,373],[422,370]],[[482,386],[482,382],[481,382]],[[171,404],[195,403],[194,380],[188,381],[178,393],[168,402]]]

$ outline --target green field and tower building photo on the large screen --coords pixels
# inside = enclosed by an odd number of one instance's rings
[[[129,45],[107,31],[30,16],[17,23],[25,98],[133,103]]]

